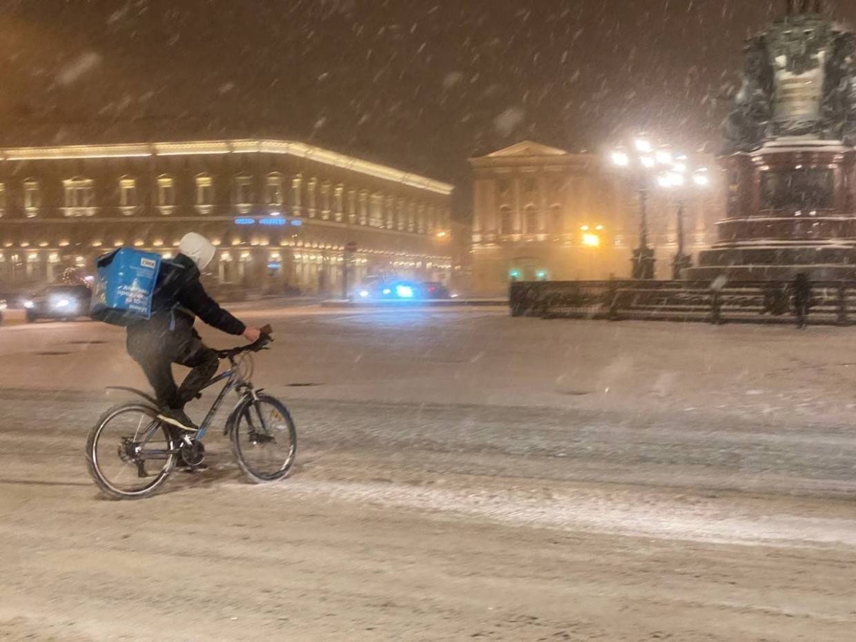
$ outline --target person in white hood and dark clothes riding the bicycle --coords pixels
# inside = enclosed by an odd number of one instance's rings
[[[152,317],[128,326],[128,354],[146,373],[160,405],[158,419],[181,431],[195,432],[199,426],[184,412],[188,401],[199,394],[217,372],[217,353],[205,346],[193,329],[196,317],[230,335],[243,335],[249,342],[261,336],[217,305],[199,282],[200,270],[214,258],[215,247],[205,236],[190,232],[181,239],[178,254],[164,261],[152,296]],[[191,368],[181,387],[176,387],[172,364]]]

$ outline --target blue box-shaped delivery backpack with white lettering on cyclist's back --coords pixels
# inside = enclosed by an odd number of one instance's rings
[[[114,325],[130,325],[150,318],[160,266],[160,254],[140,252],[133,247],[120,247],[98,257],[89,316]]]

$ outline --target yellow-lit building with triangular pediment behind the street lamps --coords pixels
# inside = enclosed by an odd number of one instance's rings
[[[715,167],[712,158],[700,161]],[[515,280],[629,277],[639,237],[639,183],[609,158],[523,141],[470,164],[474,293],[507,294]],[[658,278],[670,278],[679,199],[684,245],[696,253],[714,240],[721,183],[715,179],[704,193],[687,194],[649,186],[648,240],[656,248]]]

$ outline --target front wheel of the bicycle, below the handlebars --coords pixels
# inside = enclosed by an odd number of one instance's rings
[[[294,464],[297,430],[288,408],[270,395],[241,401],[232,426],[232,451],[251,481],[283,479]]]

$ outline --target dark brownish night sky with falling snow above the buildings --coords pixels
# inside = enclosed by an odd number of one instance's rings
[[[782,4],[0,0],[0,142],[271,135],[457,183],[524,138],[716,146],[742,40]]]

